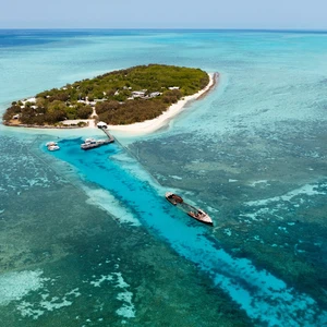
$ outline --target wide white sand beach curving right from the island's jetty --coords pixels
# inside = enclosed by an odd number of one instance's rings
[[[210,92],[215,87],[215,85],[219,82],[219,73],[209,73],[208,75],[209,83],[205,88],[191,96],[183,97],[177,104],[171,105],[167,109],[167,111],[165,111],[159,117],[130,125],[108,125],[108,129],[110,131],[126,132],[129,135],[149,134],[161,129],[162,126],[168,124],[173,117],[183,111],[186,104],[203,98],[208,92]],[[88,126],[93,128],[90,124]]]

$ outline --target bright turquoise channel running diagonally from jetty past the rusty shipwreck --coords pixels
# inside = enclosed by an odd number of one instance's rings
[[[137,178],[137,162],[134,164],[136,177],[133,170],[126,172],[123,160],[117,165],[118,147],[112,145],[82,152],[80,140],[62,141],[59,145],[61,150],[55,153],[57,158],[70,162],[88,181],[101,185],[120,199],[125,208],[134,211],[142,225],[210,276],[251,318],[272,325],[301,324],[303,318],[307,324],[319,320],[318,305],[313,299],[288,288],[268,271],[256,269],[250,261],[228,254],[218,240],[213,240],[210,228],[187,221],[187,220],[179,217],[174,207],[167,206],[161,187],[157,186],[155,192],[145,174],[142,180]],[[131,161],[130,158],[129,166]]]

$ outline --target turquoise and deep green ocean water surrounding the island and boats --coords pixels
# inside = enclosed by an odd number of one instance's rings
[[[220,73],[168,126],[92,152],[80,144],[100,131],[0,125],[4,326],[327,325],[326,38],[0,31],[0,112],[136,64]]]

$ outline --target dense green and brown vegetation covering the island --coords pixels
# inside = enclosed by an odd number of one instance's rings
[[[57,125],[66,119],[90,118],[95,108],[101,121],[130,124],[158,117],[171,104],[208,83],[208,74],[199,69],[140,65],[41,92],[33,102],[12,102],[3,120]]]

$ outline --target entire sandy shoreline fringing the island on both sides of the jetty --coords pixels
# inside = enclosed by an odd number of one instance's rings
[[[180,112],[182,112],[185,109],[185,106],[192,101],[198,100],[204,98],[218,83],[219,83],[219,73],[208,73],[209,76],[209,83],[207,86],[197,93],[183,97],[180,99],[177,104],[171,105],[165,112],[162,112],[159,117],[154,118],[152,120],[146,120],[143,122],[137,122],[129,125],[109,125],[108,124],[108,130],[112,132],[123,132],[126,136],[136,136],[136,135],[145,135],[145,134],[150,134],[153,132],[158,131],[166,124],[168,124],[175,116],[178,116]],[[98,130],[95,120],[89,119],[89,120],[83,120],[87,121],[88,125],[87,126],[52,126],[52,125],[27,125],[27,124],[10,124],[10,123],[3,123],[3,126],[8,128],[22,128],[22,129],[33,129],[33,130],[47,130],[47,131],[76,131],[76,130],[87,130],[87,131],[94,131]]]

